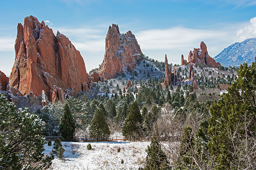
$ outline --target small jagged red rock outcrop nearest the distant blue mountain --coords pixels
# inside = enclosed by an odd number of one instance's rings
[[[181,56],[181,65],[184,65],[185,61],[183,56]],[[204,63],[206,66],[211,67],[221,66],[219,62],[216,62],[212,57],[209,56],[207,46],[203,41],[200,43],[200,48],[194,48],[193,52],[189,52],[188,63]]]

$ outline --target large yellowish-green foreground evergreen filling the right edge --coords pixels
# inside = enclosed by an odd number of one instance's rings
[[[238,76],[228,93],[210,107],[209,150],[217,157],[218,170],[250,169],[250,160],[256,162],[255,156],[247,157],[256,140],[256,63],[240,65]]]

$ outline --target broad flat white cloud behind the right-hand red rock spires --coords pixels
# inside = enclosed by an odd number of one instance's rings
[[[189,51],[200,47],[204,41],[211,57],[233,44],[237,27],[234,25],[212,26],[211,29],[192,29],[174,27],[168,29],[145,30],[135,33],[140,48],[145,55],[164,61],[167,54],[169,62],[180,63],[181,54],[187,59]]]

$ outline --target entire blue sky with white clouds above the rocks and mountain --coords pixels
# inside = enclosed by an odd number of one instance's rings
[[[235,42],[256,37],[256,0],[0,0],[0,70],[10,75],[17,23],[33,15],[66,35],[87,72],[99,67],[108,26],[131,30],[143,54],[180,64],[201,41],[215,57]]]

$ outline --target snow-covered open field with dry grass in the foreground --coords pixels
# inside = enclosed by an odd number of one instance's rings
[[[65,149],[64,159],[55,156],[52,160],[53,170],[137,170],[145,165],[145,150],[150,145],[150,142],[61,143]],[[87,150],[88,143],[92,145],[92,150]],[[52,146],[45,144],[44,148],[44,153],[49,155]]]

